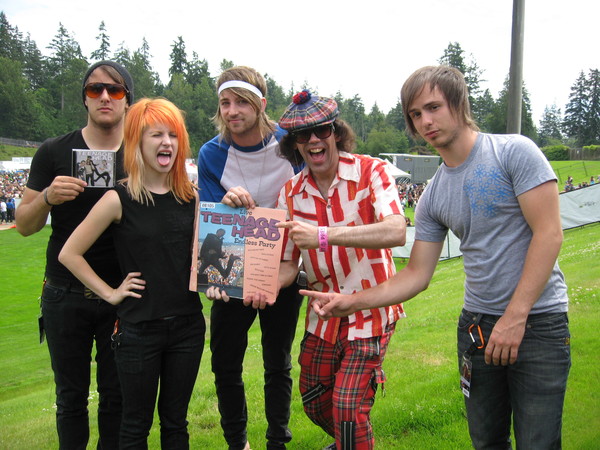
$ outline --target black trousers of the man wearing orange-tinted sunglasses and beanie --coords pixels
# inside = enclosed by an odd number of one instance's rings
[[[85,449],[89,439],[88,396],[96,341],[98,448],[118,448],[121,390],[110,348],[116,307],[46,283],[42,315],[56,383],[56,428],[61,449]]]

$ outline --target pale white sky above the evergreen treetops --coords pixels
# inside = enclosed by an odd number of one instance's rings
[[[547,106],[564,113],[580,72],[600,69],[600,2],[524,2],[523,79],[537,125]],[[308,85],[319,95],[358,95],[366,112],[375,103],[389,112],[406,78],[438,64],[453,42],[483,70],[494,98],[510,71],[510,0],[0,0],[0,10],[44,55],[62,23],[89,58],[104,21],[111,51],[124,43],[133,52],[146,38],[163,83],[181,36],[188,57],[205,59],[212,76],[227,59],[286,92]]]

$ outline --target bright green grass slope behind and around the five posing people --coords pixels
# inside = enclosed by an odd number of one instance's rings
[[[0,231],[0,448],[53,449],[54,385],[45,344],[37,332],[39,294],[49,227],[23,238]],[[560,254],[571,299],[573,367],[565,401],[565,449],[600,447],[600,225],[565,232]],[[398,261],[398,265],[402,265]],[[384,369],[388,376],[373,408],[377,448],[468,449],[470,442],[458,388],[455,356],[456,318],[462,304],[462,260],[441,262],[430,288],[405,305],[408,317],[397,327]],[[209,304],[204,300],[205,313]],[[303,321],[297,328],[297,358]],[[208,336],[207,336],[208,337]],[[249,440],[264,449],[260,330],[250,333],[244,365],[249,405]],[[190,404],[191,448],[224,448],[210,372],[208,343]],[[298,366],[294,365],[294,379]],[[97,393],[92,381],[90,417],[95,421]],[[294,387],[289,448],[320,449],[331,442],[305,416]],[[92,439],[96,428],[92,425]],[[158,419],[149,438],[159,448]],[[91,445],[88,448],[93,448]]]

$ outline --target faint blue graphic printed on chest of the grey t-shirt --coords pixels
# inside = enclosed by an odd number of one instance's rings
[[[503,179],[502,171],[498,167],[479,164],[475,168],[473,177],[467,179],[463,186],[474,216],[489,218],[498,214],[498,204],[511,195]]]

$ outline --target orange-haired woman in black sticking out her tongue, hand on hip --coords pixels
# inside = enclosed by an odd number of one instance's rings
[[[147,448],[157,396],[161,447],[188,448],[187,409],[205,323],[198,293],[188,289],[197,192],[185,170],[190,145],[183,115],[168,100],[142,99],[127,113],[124,142],[127,178],[94,206],[59,260],[119,305],[112,341],[123,392],[121,448]],[[102,280],[86,254],[108,227],[120,286]]]

